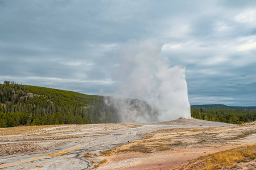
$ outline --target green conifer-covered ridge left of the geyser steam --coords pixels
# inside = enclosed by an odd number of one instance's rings
[[[0,128],[115,123],[119,120],[115,109],[104,104],[104,96],[9,81],[0,84],[0,104]]]

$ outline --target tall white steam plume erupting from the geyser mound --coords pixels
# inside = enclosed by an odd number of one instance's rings
[[[167,57],[160,57],[162,45],[130,41],[121,46],[115,58],[112,79],[117,82],[112,103],[125,122],[152,122],[191,118],[185,68],[170,67]],[[147,101],[150,112],[137,113],[127,99]],[[141,105],[140,105],[141,106]],[[138,106],[138,107],[140,107]],[[156,108],[159,112],[152,113]],[[139,112],[143,112],[142,109]]]

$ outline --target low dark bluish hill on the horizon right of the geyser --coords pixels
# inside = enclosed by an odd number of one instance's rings
[[[203,105],[191,105],[193,109],[223,109],[234,111],[256,111],[256,107],[234,107],[224,104],[203,104]]]

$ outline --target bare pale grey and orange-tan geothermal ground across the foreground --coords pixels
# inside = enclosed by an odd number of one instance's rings
[[[255,144],[255,122],[180,118],[152,124],[4,128],[0,169],[255,169]],[[217,152],[242,158],[221,162]]]

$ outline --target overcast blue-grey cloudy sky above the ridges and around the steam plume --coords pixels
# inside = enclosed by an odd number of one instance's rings
[[[256,1],[0,0],[0,82],[111,94],[131,40],[186,67],[191,105],[256,105]]]

